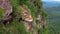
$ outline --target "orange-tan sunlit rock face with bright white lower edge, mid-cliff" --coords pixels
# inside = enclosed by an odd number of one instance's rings
[[[33,21],[33,18],[28,13],[29,11],[26,8],[22,7],[22,6],[19,6],[19,8],[22,10],[22,14],[23,14],[22,19],[24,19],[25,21],[28,21],[28,22],[32,22]]]

